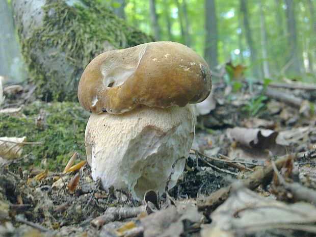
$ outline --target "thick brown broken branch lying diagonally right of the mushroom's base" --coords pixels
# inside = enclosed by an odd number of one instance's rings
[[[275,162],[276,167],[281,168],[287,157],[279,159]],[[242,185],[248,189],[254,190],[262,183],[271,181],[273,175],[272,165],[266,166],[263,169],[257,170],[250,174],[247,178],[241,180]],[[228,187],[221,188],[220,190],[212,193],[208,197],[203,197],[197,200],[199,210],[210,211],[222,204],[230,194],[230,191],[239,182],[234,182]]]

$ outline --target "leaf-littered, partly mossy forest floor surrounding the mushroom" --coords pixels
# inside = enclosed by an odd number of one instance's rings
[[[177,185],[143,201],[92,180],[89,113],[34,90],[0,111],[0,236],[315,236],[315,86],[216,83]]]

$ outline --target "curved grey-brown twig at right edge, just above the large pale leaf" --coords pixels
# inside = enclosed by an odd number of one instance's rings
[[[316,204],[316,192],[314,190],[308,189],[299,183],[288,183],[284,180],[282,175],[279,174],[279,170],[276,167],[275,163],[272,161],[272,167],[276,175],[278,176],[278,179],[281,183],[281,185],[284,186],[284,188],[291,192],[293,194],[293,197],[298,201],[306,201],[309,203]]]

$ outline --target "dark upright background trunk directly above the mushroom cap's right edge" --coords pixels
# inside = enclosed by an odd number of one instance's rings
[[[204,58],[211,69],[218,65],[217,18],[215,0],[204,0],[205,6],[205,49]]]

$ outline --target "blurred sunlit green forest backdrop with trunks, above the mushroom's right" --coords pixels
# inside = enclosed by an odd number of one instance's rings
[[[127,21],[156,40],[187,44],[210,68],[231,60],[256,78],[312,82],[316,70],[312,0],[125,0]]]

